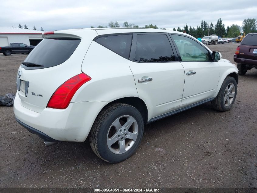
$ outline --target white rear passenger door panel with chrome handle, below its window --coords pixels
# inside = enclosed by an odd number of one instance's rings
[[[180,62],[137,63],[130,61],[138,97],[148,106],[148,120],[180,108],[184,89],[184,68]],[[139,79],[153,78],[148,82]]]

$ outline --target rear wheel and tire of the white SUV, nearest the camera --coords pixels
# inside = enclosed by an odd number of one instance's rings
[[[90,133],[90,146],[99,158],[118,163],[134,154],[143,132],[140,112],[131,105],[116,103],[97,116]]]

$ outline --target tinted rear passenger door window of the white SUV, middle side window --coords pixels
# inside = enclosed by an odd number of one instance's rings
[[[137,34],[135,61],[170,62],[175,61],[166,34]]]

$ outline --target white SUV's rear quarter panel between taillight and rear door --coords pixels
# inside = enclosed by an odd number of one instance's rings
[[[107,101],[138,97],[129,60],[93,41],[81,68],[92,80],[84,84],[72,102]]]

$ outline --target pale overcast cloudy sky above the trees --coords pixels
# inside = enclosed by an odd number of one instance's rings
[[[242,3],[244,2],[244,3]],[[167,29],[196,27],[201,20],[221,18],[225,26],[242,25],[245,18],[257,19],[256,0],[12,0],[1,1],[0,27],[18,27],[24,23],[37,30],[63,30],[108,26],[110,21],[124,21],[139,27],[152,23]]]

